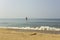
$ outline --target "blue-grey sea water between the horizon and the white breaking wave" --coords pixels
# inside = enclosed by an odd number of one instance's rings
[[[60,28],[60,19],[28,19],[13,18],[13,19],[1,19],[0,26],[7,27],[40,27],[49,26]]]

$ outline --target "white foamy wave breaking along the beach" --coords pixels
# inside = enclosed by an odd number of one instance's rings
[[[60,28],[49,27],[49,26],[40,26],[40,27],[0,27],[0,28],[60,31]]]

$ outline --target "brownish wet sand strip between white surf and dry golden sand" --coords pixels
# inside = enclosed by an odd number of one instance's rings
[[[29,29],[9,29],[9,28],[2,28],[2,29],[16,31],[16,32],[37,32],[37,33],[45,33],[45,34],[60,34],[60,31],[54,31],[54,30],[51,31],[51,30],[29,30]]]

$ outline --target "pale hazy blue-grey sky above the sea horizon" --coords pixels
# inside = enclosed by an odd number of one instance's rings
[[[60,0],[0,0],[0,18],[60,18]]]

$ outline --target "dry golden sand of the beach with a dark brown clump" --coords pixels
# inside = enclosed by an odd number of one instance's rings
[[[0,28],[0,40],[60,40],[60,34],[24,32]]]

